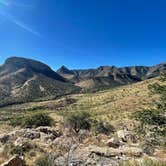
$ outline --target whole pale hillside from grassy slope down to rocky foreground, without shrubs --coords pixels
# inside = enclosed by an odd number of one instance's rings
[[[12,154],[17,153],[14,151],[15,149],[18,149],[19,152],[19,149],[23,148],[24,159],[28,165],[34,165],[37,160],[44,162],[41,157],[45,158],[50,154],[53,157],[52,162],[57,166],[65,165],[66,161],[86,163],[87,158],[90,163],[103,162],[105,166],[110,163],[113,166],[119,166],[120,162],[126,160],[132,162],[133,159],[135,159],[134,162],[144,160],[147,162],[152,159],[148,165],[147,163],[145,165],[151,166],[153,162],[157,162],[156,164],[163,163],[162,166],[164,166],[165,150],[157,147],[152,156],[147,155],[146,153],[151,151],[144,150],[146,140],[139,140],[138,135],[135,135],[134,122],[130,118],[135,111],[152,108],[153,104],[158,101],[159,96],[150,95],[148,90],[148,86],[156,82],[158,82],[158,78],[97,93],[73,94],[56,100],[0,108],[0,141],[7,140],[5,146],[3,143],[1,148],[1,150],[6,149],[5,152],[0,153],[0,163],[7,161],[12,156],[11,152]],[[73,133],[65,125],[65,119],[69,115],[81,111],[88,112],[91,118],[103,122],[103,124],[113,125],[116,132],[111,132],[109,135],[96,134],[93,130]],[[32,129],[20,129],[9,125],[15,119],[28,118],[36,113],[49,115],[54,119],[55,125]],[[120,132],[126,134],[124,128],[128,129],[127,141],[122,141],[119,136]],[[148,146],[148,148],[152,147]],[[90,155],[91,151],[94,156]],[[66,155],[69,154],[70,158],[66,158]],[[129,165],[129,163],[127,164]]]

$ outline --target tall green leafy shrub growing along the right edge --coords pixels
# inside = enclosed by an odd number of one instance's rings
[[[131,117],[138,122],[135,129],[140,138],[153,145],[166,146],[166,73],[159,80],[160,83],[149,86],[151,94],[160,96],[154,103],[155,109],[137,111]]]

